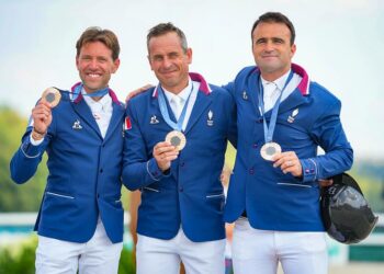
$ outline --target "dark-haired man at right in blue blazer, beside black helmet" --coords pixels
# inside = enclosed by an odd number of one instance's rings
[[[340,101],[291,62],[295,30],[283,14],[251,31],[257,67],[226,88],[237,106],[238,146],[225,208],[235,222],[236,274],[327,273],[319,180],[351,168]],[[325,155],[317,156],[321,147]]]

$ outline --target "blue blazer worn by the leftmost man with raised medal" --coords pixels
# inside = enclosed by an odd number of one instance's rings
[[[61,101],[52,110],[53,122],[44,141],[33,146],[32,126],[26,128],[10,163],[12,180],[21,184],[31,179],[46,151],[49,174],[35,224],[38,235],[87,242],[100,215],[111,241],[121,242],[124,105],[110,90],[113,114],[103,139],[82,96],[72,102],[68,92],[60,92]]]

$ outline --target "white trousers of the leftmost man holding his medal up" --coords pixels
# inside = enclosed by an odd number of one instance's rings
[[[38,236],[36,274],[117,273],[123,243],[112,243],[102,221],[86,243]]]

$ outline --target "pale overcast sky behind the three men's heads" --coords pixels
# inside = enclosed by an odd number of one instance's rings
[[[88,26],[114,31],[121,67],[111,88],[123,100],[145,83],[146,34],[160,22],[182,28],[191,71],[226,83],[253,64],[250,27],[267,11],[296,27],[296,55],[309,78],[342,101],[357,158],[384,158],[384,1],[381,0],[0,0],[0,104],[25,117],[47,87],[78,81],[75,44]]]

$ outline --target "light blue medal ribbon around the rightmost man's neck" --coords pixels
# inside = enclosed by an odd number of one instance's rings
[[[275,127],[276,121],[278,121],[278,112],[279,112],[281,96],[283,95],[283,92],[284,92],[286,85],[290,83],[292,77],[293,77],[293,71],[291,70],[290,76],[287,77],[287,79],[286,79],[286,81],[284,83],[284,88],[281,91],[276,102],[273,105],[271,121],[269,123],[269,126],[267,125],[266,112],[264,112],[264,89],[263,89],[262,83],[261,83],[261,77],[259,77],[259,89],[260,89],[260,92],[258,94],[258,98],[259,98],[259,111],[260,111],[260,113],[262,115],[262,123],[263,123],[263,126],[264,126],[264,140],[266,140],[266,144],[272,141],[274,127]]]

